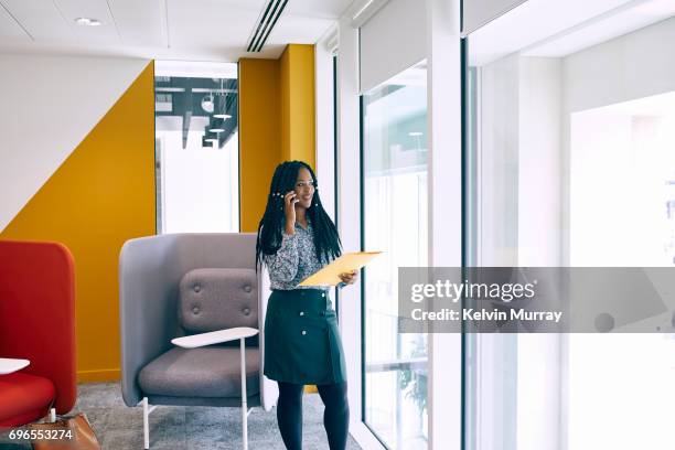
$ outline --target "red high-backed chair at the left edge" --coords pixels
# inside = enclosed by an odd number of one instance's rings
[[[75,405],[74,261],[65,246],[0,240],[0,358],[30,361],[0,375],[0,427]]]

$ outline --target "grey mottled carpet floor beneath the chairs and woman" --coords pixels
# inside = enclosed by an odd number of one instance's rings
[[[121,399],[117,383],[92,383],[78,386],[73,413],[85,413],[104,449],[143,448],[143,414],[129,408]],[[354,414],[354,411],[352,411]],[[303,401],[303,449],[328,450],[323,428],[323,403],[318,394],[306,394]],[[25,441],[10,441],[0,432],[0,449],[30,449]],[[219,450],[242,448],[242,410],[160,406],[150,415],[150,448],[154,450]],[[276,408],[266,413],[254,408],[248,416],[250,450],[283,450],[277,427]],[[350,436],[347,450],[361,449]]]

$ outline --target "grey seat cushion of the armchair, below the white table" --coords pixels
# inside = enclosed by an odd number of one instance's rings
[[[240,397],[239,358],[238,347],[175,347],[144,366],[138,383],[151,396]],[[247,396],[260,392],[259,371],[259,349],[246,347]]]

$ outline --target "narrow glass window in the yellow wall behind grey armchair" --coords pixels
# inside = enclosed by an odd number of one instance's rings
[[[158,234],[238,232],[237,65],[158,61],[154,75]]]

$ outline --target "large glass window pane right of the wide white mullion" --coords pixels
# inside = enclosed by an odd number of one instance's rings
[[[675,6],[534,3],[468,38],[469,265],[673,266]],[[465,355],[470,449],[672,442],[672,334],[469,335]]]

